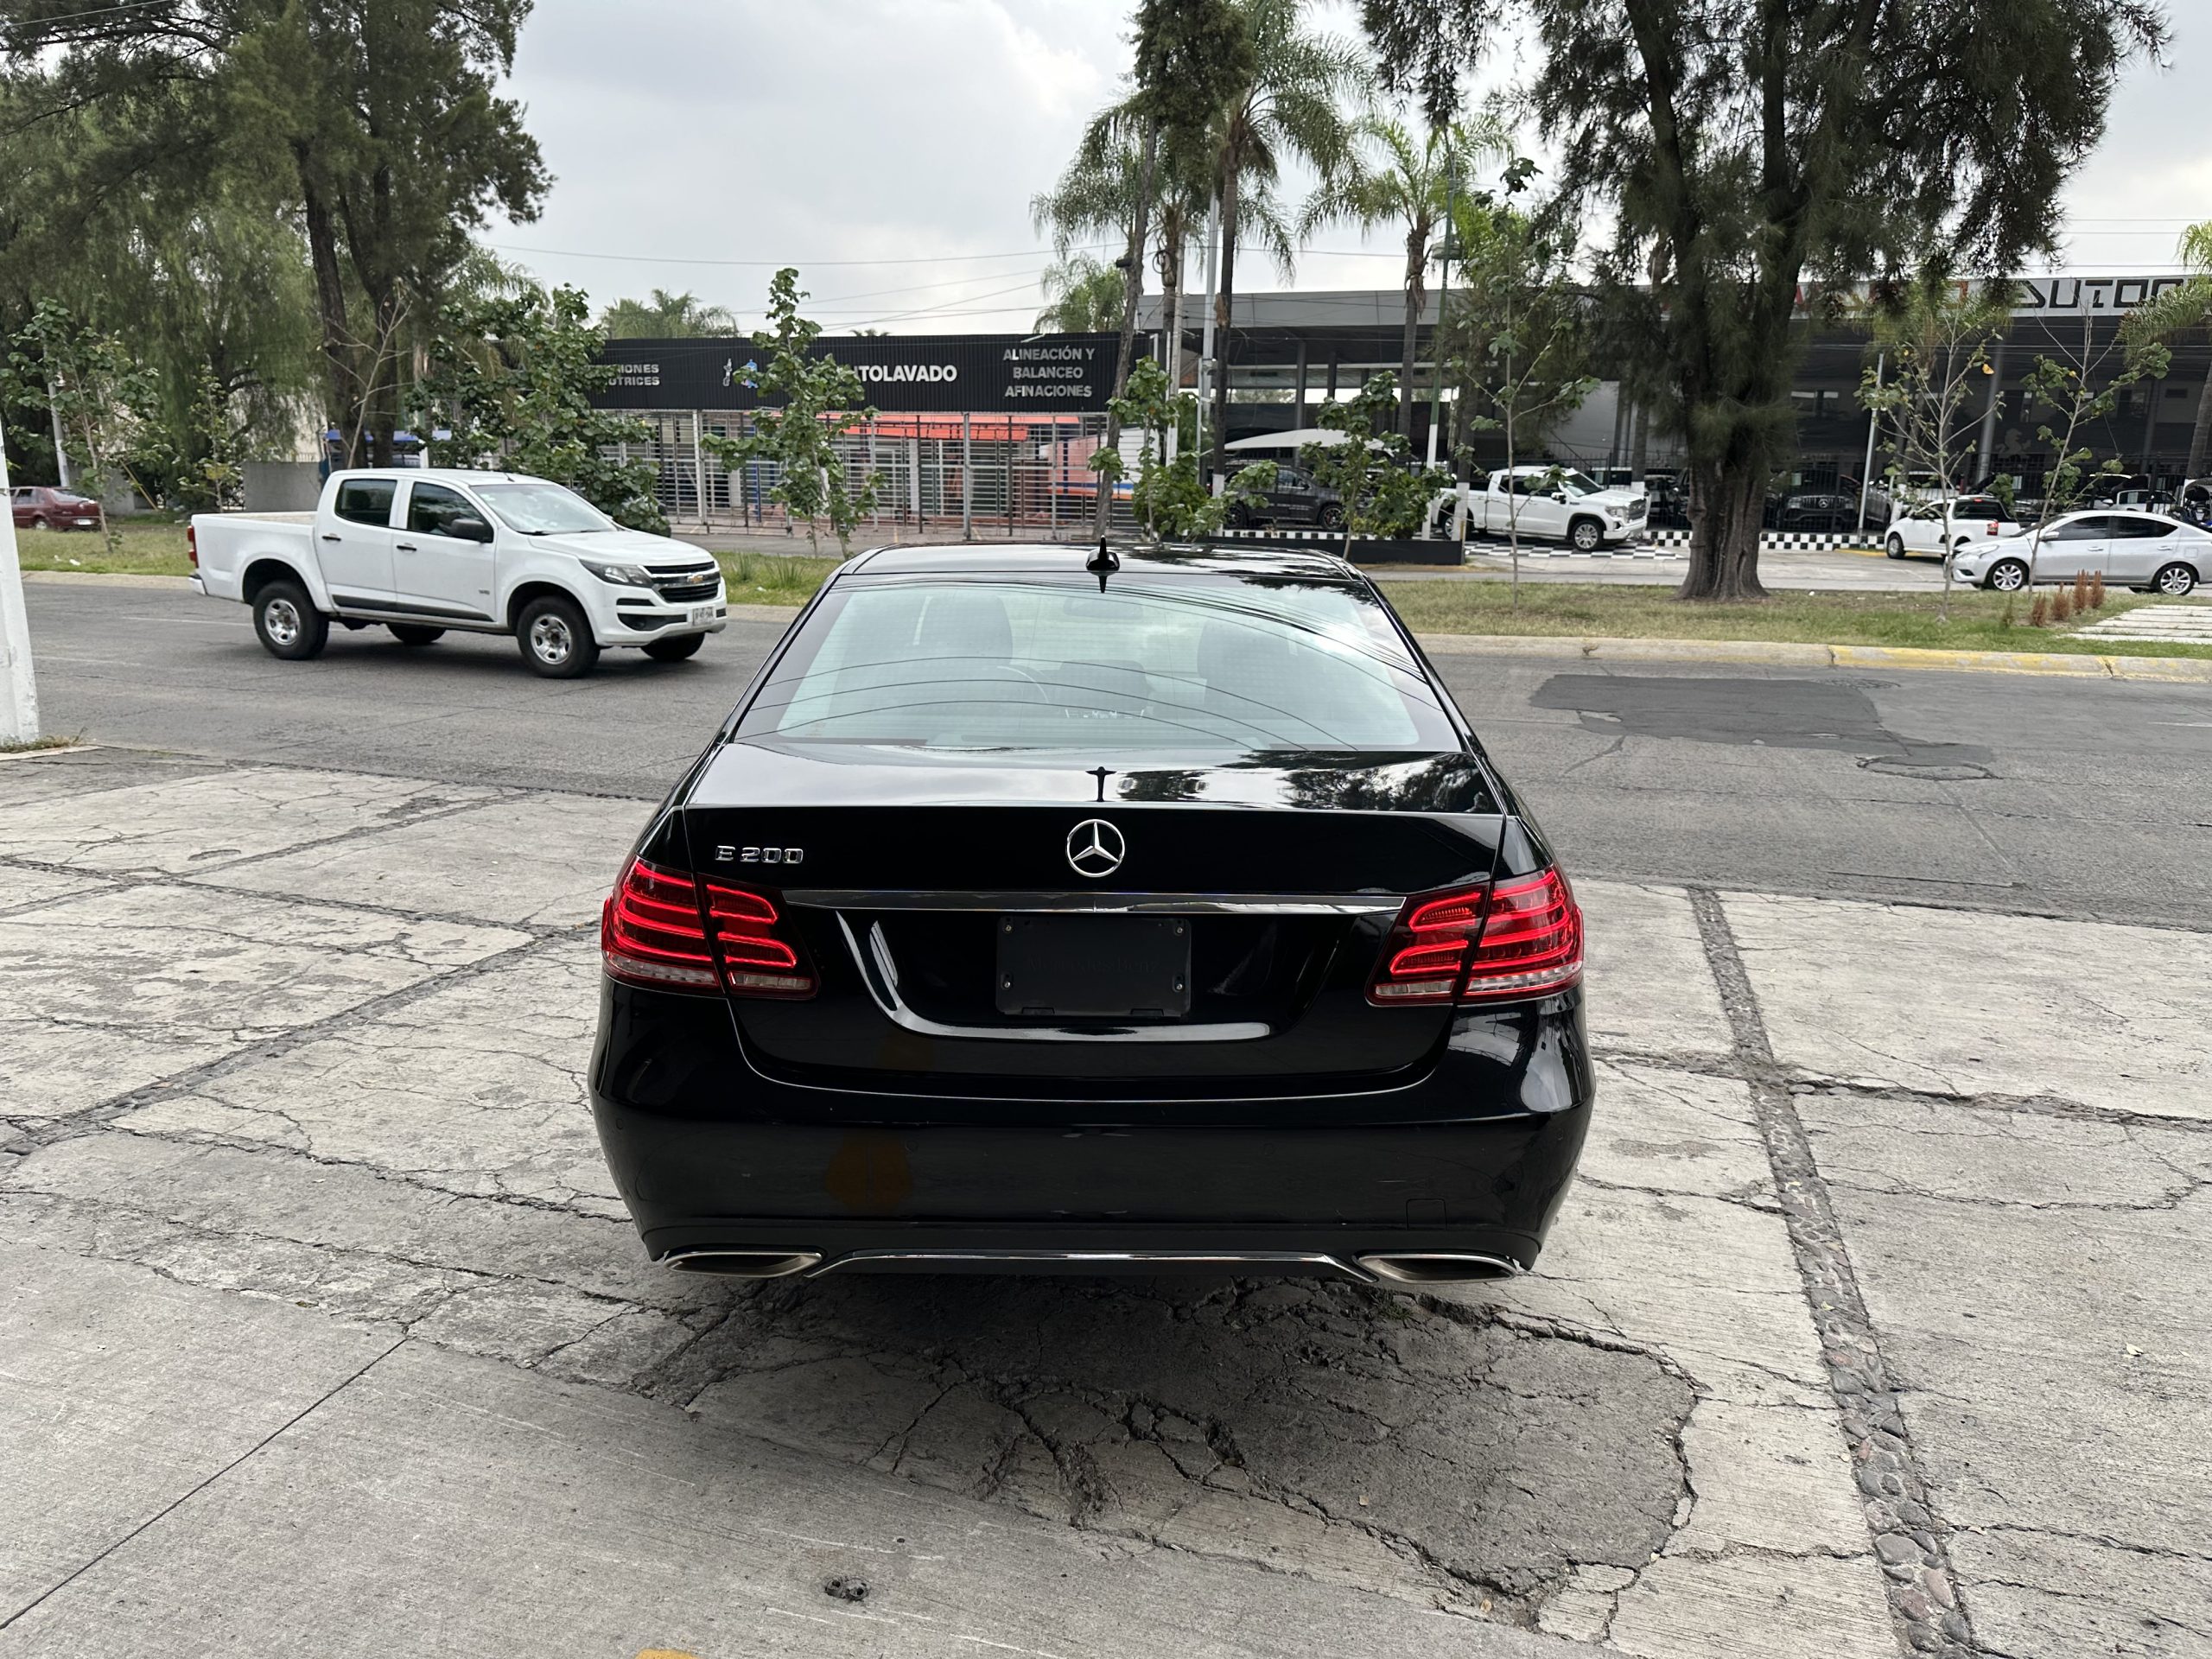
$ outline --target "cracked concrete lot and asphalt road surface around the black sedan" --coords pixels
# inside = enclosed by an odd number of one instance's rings
[[[2203,686],[1442,657],[1590,916],[1535,1274],[745,1287],[582,1068],[781,615],[31,619],[97,748],[0,761],[0,1655],[2212,1652]]]

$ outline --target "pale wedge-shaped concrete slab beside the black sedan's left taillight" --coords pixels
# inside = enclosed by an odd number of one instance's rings
[[[520,927],[580,927],[597,920],[599,900],[650,816],[639,801],[586,794],[498,801],[206,880]]]

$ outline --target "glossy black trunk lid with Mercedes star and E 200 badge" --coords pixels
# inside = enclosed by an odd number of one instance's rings
[[[732,998],[757,1066],[1077,1097],[1420,1075],[1451,1011],[1376,1009],[1367,984],[1402,898],[1484,880],[1504,823],[1469,754],[1115,765],[776,741],[721,748],[681,816],[692,867],[776,894],[821,978],[805,1002]],[[1006,969],[1037,967],[1040,936],[1097,971],[1046,973],[1024,1006]],[[1117,975],[1159,995],[1102,1013]]]

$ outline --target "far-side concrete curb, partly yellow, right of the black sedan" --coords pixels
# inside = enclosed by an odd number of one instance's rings
[[[1770,668],[1938,668],[1984,675],[2073,675],[2212,686],[2212,657],[2095,657],[2057,650],[1924,650],[1918,646],[1809,646],[1778,639],[1586,639],[1511,633],[1420,633],[1438,657],[1546,657],[1564,661],[1725,661]]]

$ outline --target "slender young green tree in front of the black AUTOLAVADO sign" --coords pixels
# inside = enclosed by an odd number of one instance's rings
[[[816,524],[827,520],[838,549],[852,553],[852,533],[876,511],[880,476],[852,478],[838,438],[876,418],[860,376],[814,349],[821,323],[799,314],[799,272],[779,270],[768,288],[768,330],[752,336],[765,358],[754,389],[776,407],[759,409],[743,436],[708,434],[701,442],[726,465],[774,462],[768,498],[807,522],[807,546],[821,546]]]

